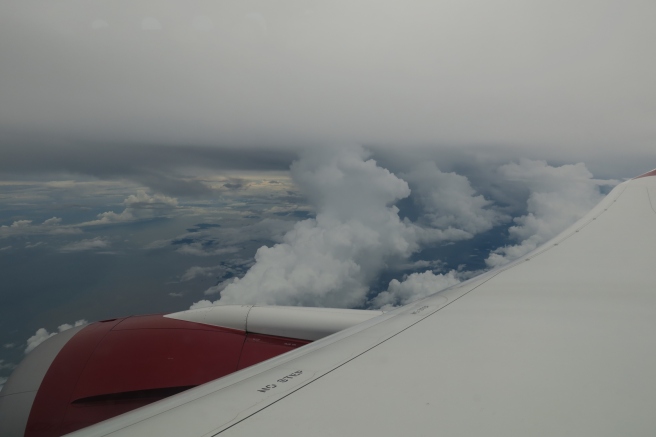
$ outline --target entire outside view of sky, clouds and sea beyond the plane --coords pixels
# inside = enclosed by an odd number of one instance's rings
[[[390,308],[532,250],[656,167],[655,19],[0,0],[0,385],[58,326]]]

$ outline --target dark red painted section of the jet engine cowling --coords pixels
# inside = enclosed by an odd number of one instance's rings
[[[93,323],[37,363],[48,367],[25,436],[61,436],[307,343],[161,315]]]

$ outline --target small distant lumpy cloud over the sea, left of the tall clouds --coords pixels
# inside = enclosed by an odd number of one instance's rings
[[[80,226],[126,223],[137,220],[165,217],[178,206],[178,200],[163,194],[150,195],[144,190],[131,194],[124,201],[125,209],[120,213],[108,211],[98,214],[98,219],[82,223]]]

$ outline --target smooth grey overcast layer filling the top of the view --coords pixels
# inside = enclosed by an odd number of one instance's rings
[[[654,154],[650,0],[3,0],[0,11],[3,148]]]

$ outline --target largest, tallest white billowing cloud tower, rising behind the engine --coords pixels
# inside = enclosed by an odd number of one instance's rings
[[[418,249],[415,227],[393,206],[410,194],[408,184],[361,147],[307,151],[291,173],[316,219],[296,223],[282,243],[261,247],[255,265],[217,302],[363,305],[369,282],[387,263]]]

